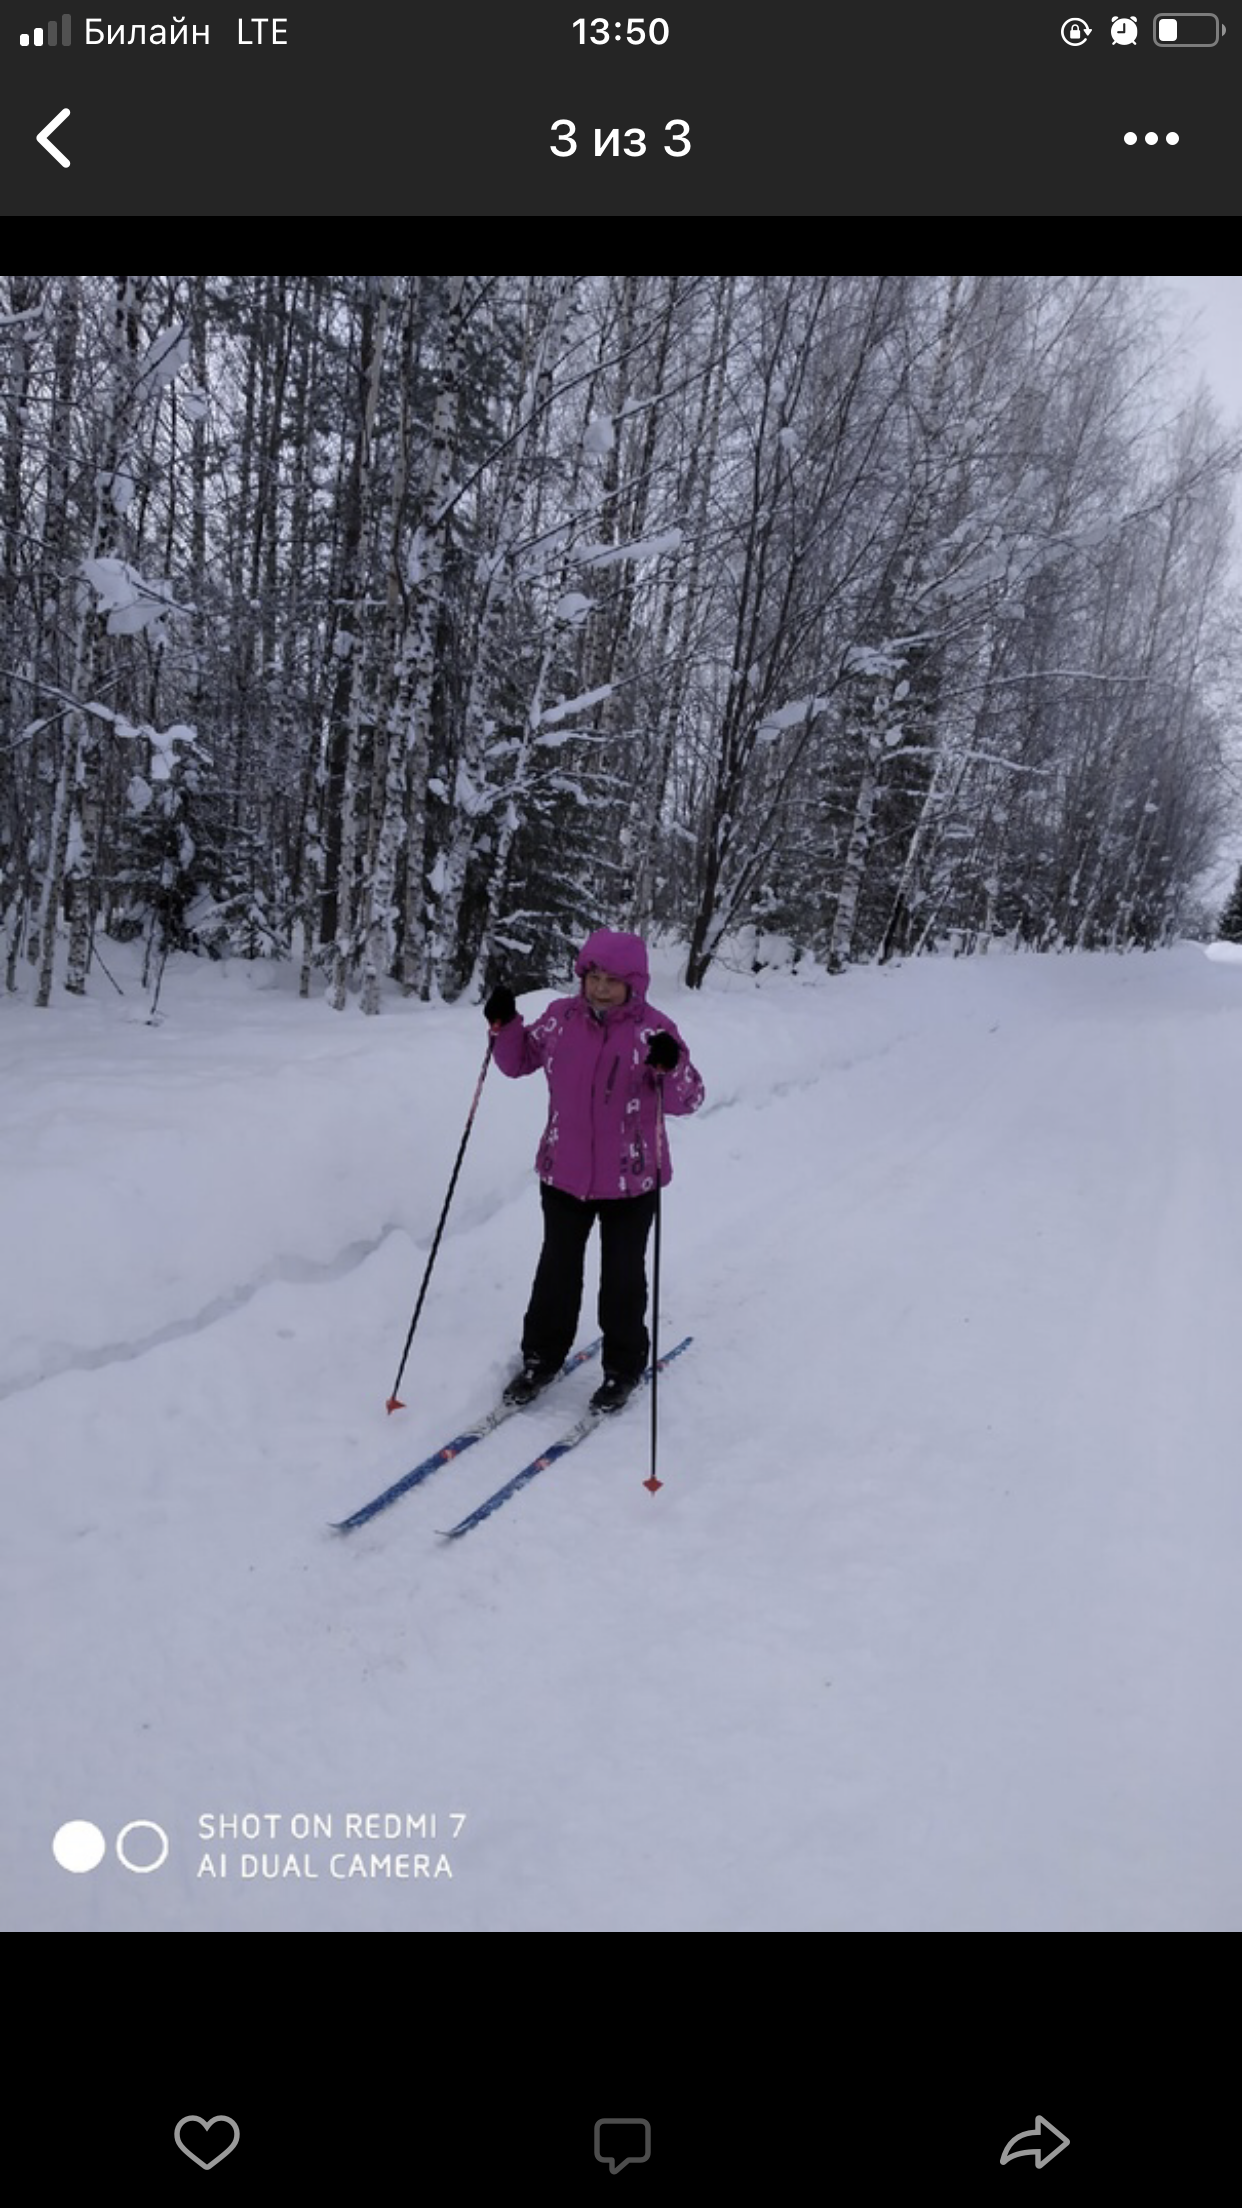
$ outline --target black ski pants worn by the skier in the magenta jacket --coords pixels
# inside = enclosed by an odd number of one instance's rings
[[[654,1188],[641,1197],[597,1197],[586,1203],[564,1188],[539,1183],[544,1199],[544,1248],[522,1329],[522,1356],[564,1365],[581,1309],[586,1243],[599,1219],[599,1331],[603,1371],[636,1380],[648,1367],[648,1267],[645,1250],[656,1217]]]

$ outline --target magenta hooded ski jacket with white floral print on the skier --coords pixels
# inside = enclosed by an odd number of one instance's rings
[[[665,1113],[692,1113],[703,1104],[703,1082],[667,1013],[648,1005],[648,945],[599,927],[586,938],[575,974],[601,967],[628,983],[630,996],[612,1011],[594,1011],[579,996],[559,996],[526,1027],[522,1013],[493,1036],[493,1058],[517,1080],[544,1066],[548,1075],[548,1126],[535,1155],[541,1181],[579,1199],[639,1197],[656,1186],[656,1073],[648,1066],[648,1044],[661,1029],[681,1047],[676,1066],[663,1075]],[[667,1135],[661,1157],[661,1188],[672,1179]]]

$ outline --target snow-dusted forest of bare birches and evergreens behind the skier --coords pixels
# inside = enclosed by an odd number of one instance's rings
[[[1173,349],[1134,276],[4,278],[7,987],[1202,925],[1240,450]]]

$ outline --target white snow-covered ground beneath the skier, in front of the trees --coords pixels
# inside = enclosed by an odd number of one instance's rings
[[[656,956],[665,1484],[639,1398],[455,1543],[592,1367],[329,1521],[513,1369],[541,1078],[387,1418],[477,1009],[108,963],[0,1002],[7,1928],[1242,1928],[1235,956]]]

